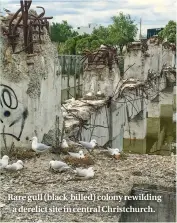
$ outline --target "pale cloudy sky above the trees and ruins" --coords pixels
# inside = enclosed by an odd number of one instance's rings
[[[15,12],[19,8],[16,0],[0,0],[2,8]],[[164,27],[169,20],[176,20],[176,0],[33,0],[31,8],[43,6],[46,16],[53,16],[52,22],[67,20],[74,28],[97,23],[111,24],[111,17],[119,12],[130,14],[138,24],[142,18],[142,34],[148,28]],[[41,12],[41,10],[37,10]]]

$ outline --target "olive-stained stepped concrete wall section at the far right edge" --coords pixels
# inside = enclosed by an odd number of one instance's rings
[[[168,146],[163,145],[164,139],[166,137],[166,141],[167,138],[175,141],[176,130],[174,130],[175,124],[172,123],[172,101],[172,89],[169,91],[167,88],[159,93],[158,101],[151,101],[148,104],[146,145],[147,151],[151,153],[167,147],[165,150],[159,151],[159,154],[169,155]]]

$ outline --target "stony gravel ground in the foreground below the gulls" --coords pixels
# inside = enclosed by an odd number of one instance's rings
[[[19,172],[2,171],[1,222],[118,222],[120,212],[70,212],[67,208],[121,207],[125,204],[124,200],[108,200],[106,194],[117,197],[129,195],[134,184],[175,186],[174,157],[127,154],[126,159],[113,160],[105,154],[96,153],[95,177],[85,181],[74,180],[71,171],[51,172],[49,161],[52,158],[59,160],[55,154],[42,154],[37,160],[25,161],[25,168]],[[50,194],[51,200],[47,194]],[[82,197],[81,200],[71,200],[71,195],[76,194],[90,195],[90,200],[83,200]],[[93,195],[97,196],[96,200],[91,197]],[[103,195],[107,200],[98,200],[98,196]]]

